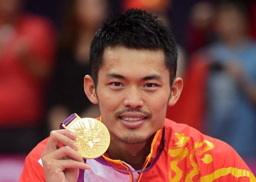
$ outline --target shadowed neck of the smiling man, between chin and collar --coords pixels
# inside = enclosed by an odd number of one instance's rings
[[[127,144],[115,137],[111,137],[111,144],[107,152],[111,159],[122,160],[135,170],[140,170],[143,168],[145,159],[150,153],[153,138],[154,134],[143,143]]]

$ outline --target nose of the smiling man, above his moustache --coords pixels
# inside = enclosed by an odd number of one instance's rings
[[[141,93],[139,88],[131,87],[127,89],[125,92],[124,106],[126,108],[142,108],[143,107],[143,99],[141,97]]]

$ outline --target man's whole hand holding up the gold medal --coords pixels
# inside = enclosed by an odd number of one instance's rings
[[[47,182],[76,182],[79,168],[90,169],[74,143],[77,136],[69,130],[51,131],[46,148],[41,155]],[[59,148],[59,143],[64,147]]]

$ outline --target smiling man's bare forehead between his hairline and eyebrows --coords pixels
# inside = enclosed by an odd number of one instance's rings
[[[126,68],[127,70],[167,69],[163,50],[108,47],[103,53],[103,69]]]

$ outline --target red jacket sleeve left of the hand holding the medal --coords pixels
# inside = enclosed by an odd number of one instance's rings
[[[40,142],[26,157],[19,182],[45,182],[44,168],[38,162],[44,151],[48,138]]]

